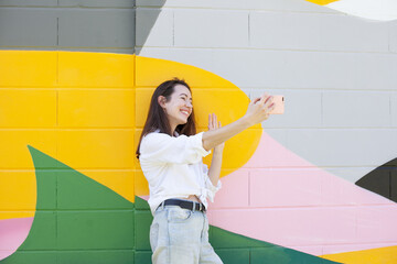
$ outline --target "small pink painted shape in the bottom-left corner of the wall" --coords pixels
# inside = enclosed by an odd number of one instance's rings
[[[34,218],[0,220],[0,260],[6,258],[28,238]]]

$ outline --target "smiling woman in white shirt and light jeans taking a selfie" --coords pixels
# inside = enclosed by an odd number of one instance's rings
[[[149,182],[153,264],[222,263],[208,242],[207,198],[221,188],[224,142],[266,120],[273,108],[264,95],[239,120],[221,127],[208,117],[208,131],[196,134],[192,94],[181,79],[162,82],[153,92],[137,148]],[[210,169],[202,157],[214,150]]]

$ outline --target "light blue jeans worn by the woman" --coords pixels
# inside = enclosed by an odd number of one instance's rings
[[[222,264],[208,242],[208,219],[179,206],[159,207],[150,226],[153,264]]]

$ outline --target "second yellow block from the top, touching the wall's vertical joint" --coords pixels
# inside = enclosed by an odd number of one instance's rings
[[[135,91],[132,89],[60,90],[58,125],[132,129]]]

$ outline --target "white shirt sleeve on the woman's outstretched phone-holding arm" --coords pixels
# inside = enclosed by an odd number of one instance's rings
[[[176,138],[165,133],[150,133],[142,139],[139,158],[158,163],[197,163],[211,153],[204,150],[202,139],[203,132]]]

